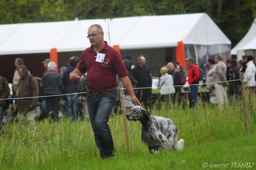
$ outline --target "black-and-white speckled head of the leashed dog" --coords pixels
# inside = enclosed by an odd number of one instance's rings
[[[141,121],[142,119],[146,119],[146,121],[150,120],[150,113],[146,110],[143,109],[140,106],[134,106],[130,109],[130,113],[126,114],[126,118],[129,121]]]

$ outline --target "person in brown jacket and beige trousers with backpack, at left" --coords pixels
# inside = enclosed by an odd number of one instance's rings
[[[28,69],[25,65],[18,67],[18,74],[21,77],[19,83],[19,98],[26,97],[37,97],[37,98],[26,98],[17,100],[18,108],[18,119],[25,120],[26,123],[34,124],[35,109],[37,108],[39,88],[38,82],[35,77],[32,77],[29,81],[31,74],[28,73]]]

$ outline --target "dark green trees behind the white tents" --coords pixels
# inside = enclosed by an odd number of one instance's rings
[[[256,1],[0,0],[0,11],[0,24],[205,12],[234,47],[248,32],[256,17]]]

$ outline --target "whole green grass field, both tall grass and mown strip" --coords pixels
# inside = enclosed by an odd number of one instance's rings
[[[250,103],[249,103],[250,102]],[[102,160],[87,121],[36,122],[31,130],[23,123],[4,124],[0,136],[1,169],[204,169],[235,163],[256,164],[255,100],[248,100],[249,136],[245,134],[242,102],[224,108],[208,106],[199,100],[194,109],[186,105],[156,105],[150,113],[168,117],[177,125],[183,151],[150,154],[140,139],[141,124],[127,122],[131,154],[127,153],[122,115],[109,119],[116,156]],[[252,164],[250,164],[252,166]],[[238,166],[238,165],[236,165]],[[255,168],[253,165],[252,168]],[[236,167],[241,168],[241,167]]]

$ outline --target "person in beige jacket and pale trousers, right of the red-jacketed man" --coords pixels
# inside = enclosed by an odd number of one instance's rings
[[[223,58],[221,55],[215,56],[215,62],[217,63],[217,65],[214,71],[214,82],[218,82],[214,85],[216,100],[218,102],[218,105],[222,106],[224,103],[228,102],[226,91],[226,86],[229,85],[229,83],[226,82],[227,65],[223,62]]]

